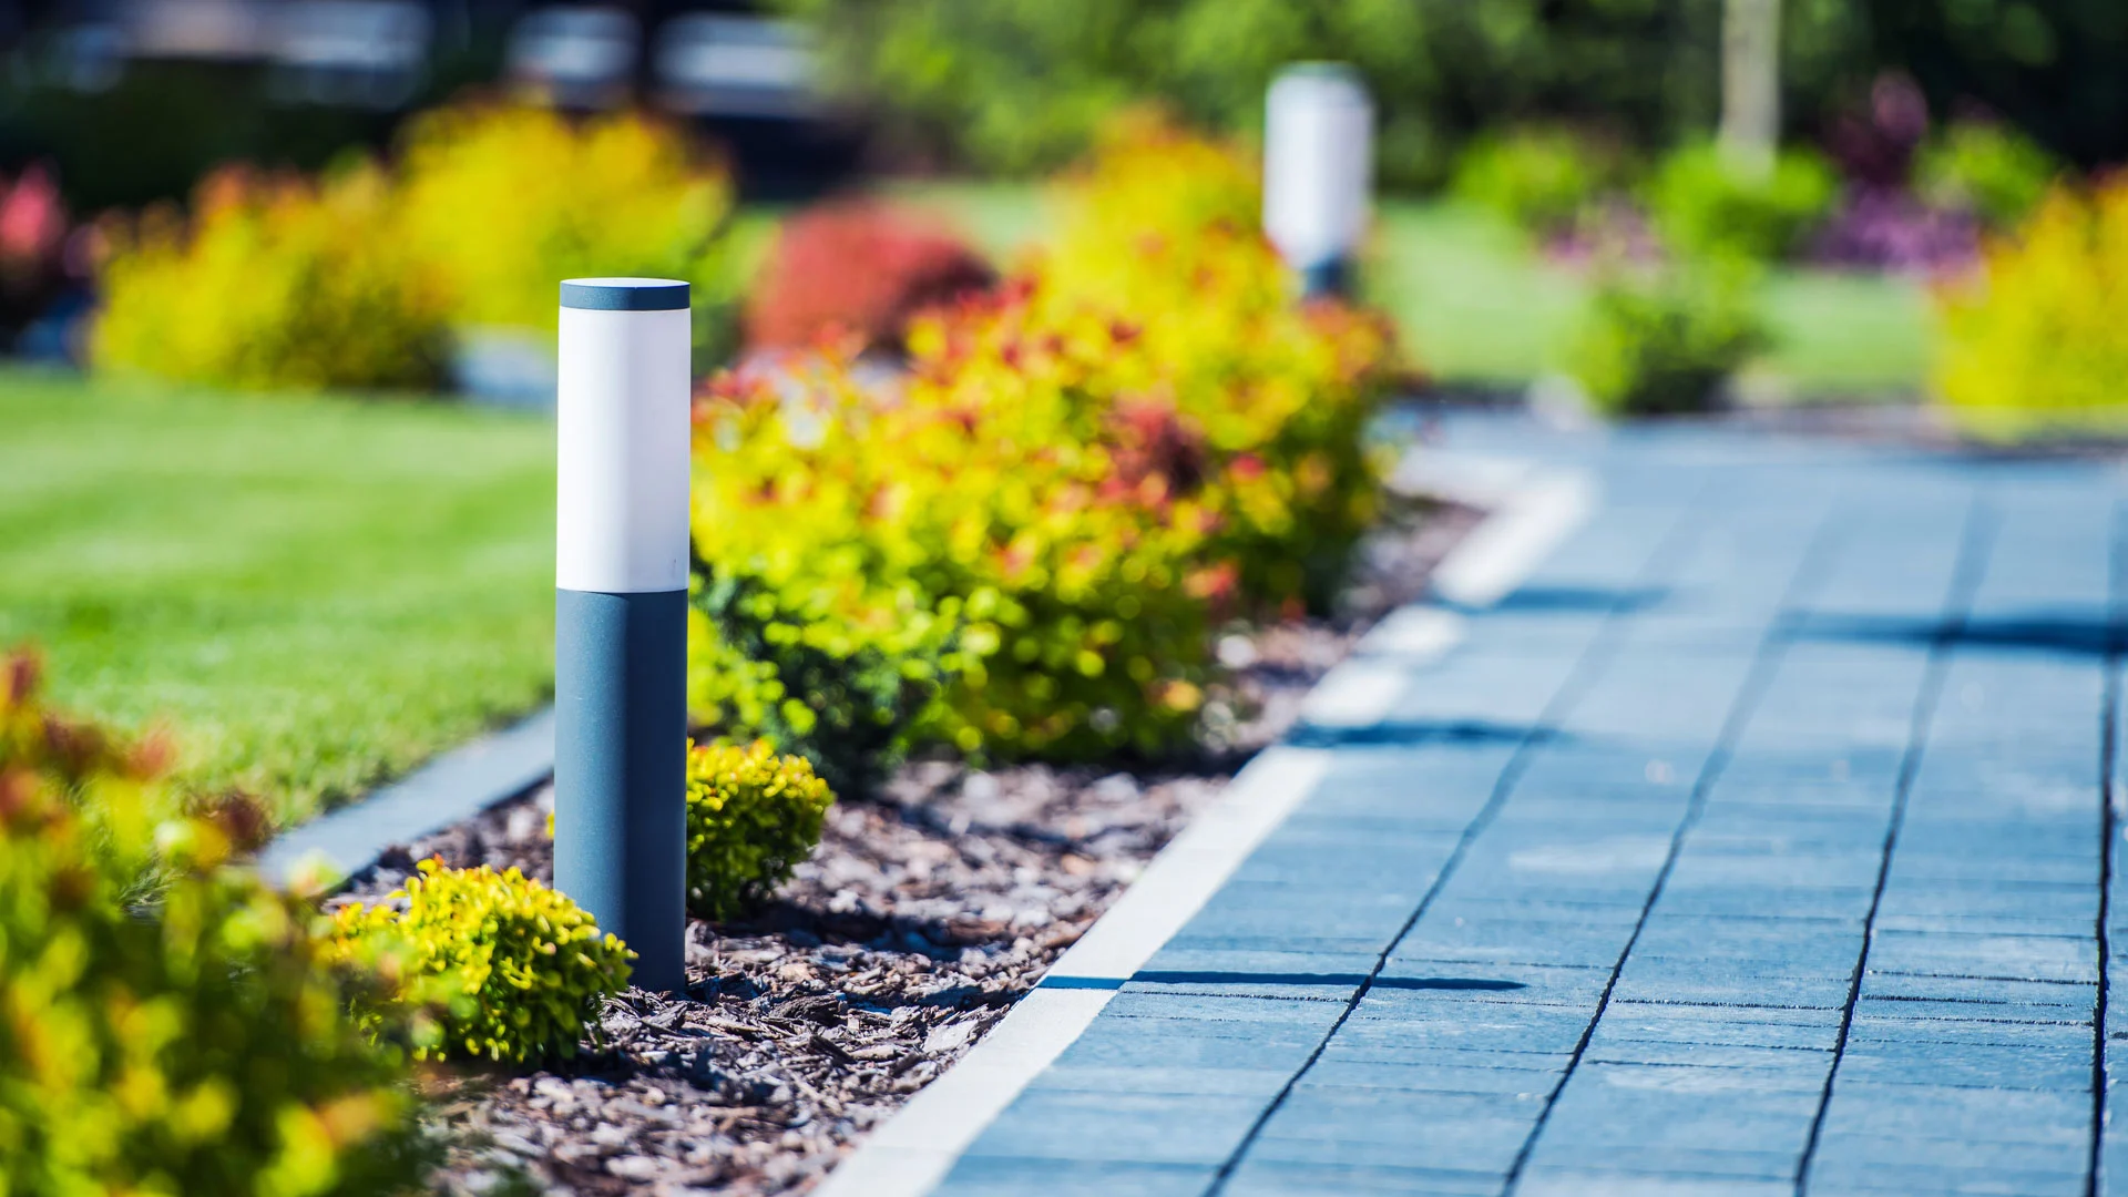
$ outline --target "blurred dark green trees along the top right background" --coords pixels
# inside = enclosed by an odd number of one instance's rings
[[[1253,132],[1296,60],[1360,68],[1396,185],[1443,179],[1487,126],[1666,145],[1722,117],[1728,6],[1758,30],[1734,47],[1753,138],[1811,136],[1907,70],[1939,115],[1977,100],[2083,164],[2128,158],[2128,0],[772,2],[813,19],[824,79],[890,149],[987,170],[1055,166],[1143,100]]]

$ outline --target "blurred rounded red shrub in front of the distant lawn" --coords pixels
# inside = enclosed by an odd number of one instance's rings
[[[802,349],[853,334],[900,349],[909,319],[987,290],[981,253],[921,217],[879,202],[832,202],[792,217],[747,300],[747,345]]]

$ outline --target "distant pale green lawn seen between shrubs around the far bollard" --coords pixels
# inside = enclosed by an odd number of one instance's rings
[[[900,183],[892,196],[941,213],[996,256],[1038,243],[1041,194],[1007,183]],[[1539,260],[1504,222],[1468,207],[1387,200],[1375,245],[1379,298],[1439,379],[1522,383],[1560,364],[1585,279]],[[1766,283],[1777,347],[1762,362],[1798,398],[1913,394],[1928,371],[1917,283],[1781,270]]]

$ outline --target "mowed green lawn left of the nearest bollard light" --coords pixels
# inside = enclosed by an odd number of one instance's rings
[[[0,647],[283,820],[553,684],[553,424],[0,373]]]

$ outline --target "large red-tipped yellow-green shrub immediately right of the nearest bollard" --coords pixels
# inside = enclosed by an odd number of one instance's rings
[[[1085,388],[1124,347],[1007,328],[975,324],[983,347],[938,371],[919,358],[894,390],[864,390],[834,362],[813,377],[845,381],[798,396],[766,379],[719,388],[696,439],[706,584],[794,596],[779,607],[811,618],[785,624],[783,645],[885,650],[883,667],[943,679],[938,701],[894,709],[917,739],[1009,756],[1166,748],[1196,716],[1211,598],[1232,571],[1198,560],[1211,528],[1198,498],[1158,466],[1117,466],[1111,409]],[[762,667],[730,658],[728,620],[709,630],[698,662]],[[781,675],[787,656],[768,665]]]

